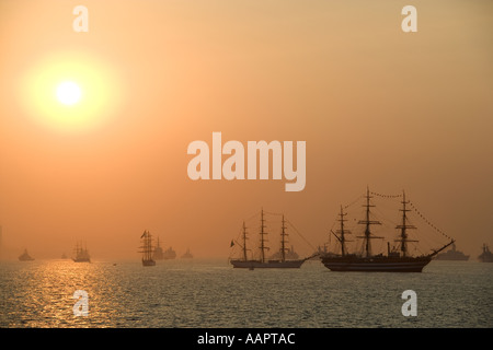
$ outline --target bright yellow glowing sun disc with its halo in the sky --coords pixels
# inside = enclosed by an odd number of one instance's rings
[[[19,98],[26,115],[62,132],[80,132],[115,116],[118,79],[110,65],[88,52],[57,52],[25,72]]]

